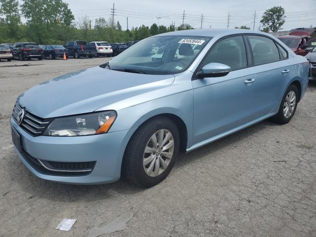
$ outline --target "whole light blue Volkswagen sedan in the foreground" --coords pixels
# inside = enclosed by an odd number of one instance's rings
[[[100,184],[124,176],[150,187],[169,174],[179,151],[267,118],[289,122],[308,69],[306,58],[262,32],[161,34],[21,94],[12,139],[42,179]]]

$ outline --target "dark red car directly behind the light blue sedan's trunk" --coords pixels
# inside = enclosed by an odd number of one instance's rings
[[[285,43],[295,54],[301,56],[307,54],[302,46],[309,40],[308,36],[278,36],[277,39]]]

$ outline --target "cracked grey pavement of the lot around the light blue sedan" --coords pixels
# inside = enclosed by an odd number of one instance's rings
[[[316,83],[293,119],[268,120],[180,154],[165,181],[74,186],[34,176],[15,154],[9,118],[16,97],[48,79],[109,58],[0,62],[0,237],[85,237],[132,212],[106,236],[316,236]],[[21,66],[30,64],[30,66]],[[70,91],[71,93],[71,91]],[[77,219],[69,232],[55,230]]]

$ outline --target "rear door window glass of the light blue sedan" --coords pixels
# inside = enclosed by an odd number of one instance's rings
[[[262,36],[248,36],[255,65],[273,63],[280,60],[273,40]]]

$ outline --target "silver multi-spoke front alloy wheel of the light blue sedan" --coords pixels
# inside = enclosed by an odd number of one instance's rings
[[[174,151],[172,133],[167,129],[155,132],[145,147],[143,167],[150,177],[157,177],[169,165]]]

